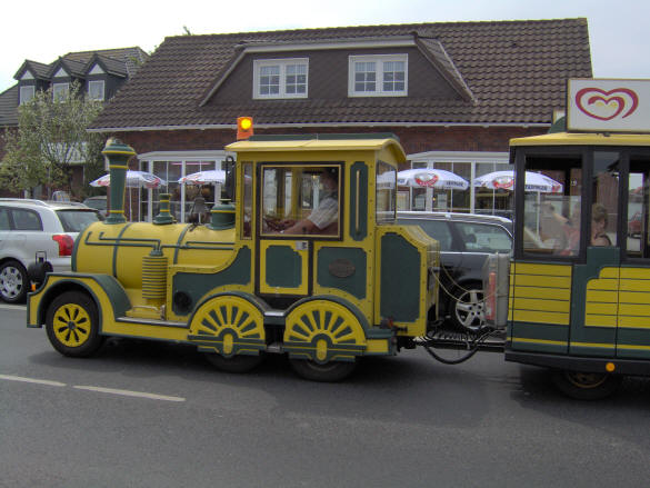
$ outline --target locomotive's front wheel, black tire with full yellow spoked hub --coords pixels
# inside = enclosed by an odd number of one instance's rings
[[[84,358],[103,342],[99,333],[99,315],[94,301],[81,291],[66,291],[48,307],[48,339],[63,356]]]

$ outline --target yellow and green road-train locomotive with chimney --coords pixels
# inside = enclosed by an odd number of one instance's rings
[[[67,356],[89,356],[109,336],[146,338],[196,345],[228,371],[287,353],[322,381],[427,333],[439,246],[396,223],[406,159],[396,138],[258,136],[227,149],[234,202],[216,205],[209,223],[176,223],[168,195],[153,222],[127,222],[134,151],[109,140],[118,206],[79,236],[71,272],[34,283],[28,327],[44,325]]]

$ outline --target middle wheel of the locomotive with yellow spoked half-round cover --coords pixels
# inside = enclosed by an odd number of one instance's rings
[[[260,362],[266,349],[263,315],[246,298],[214,297],[192,318],[188,339],[218,368],[243,372]]]

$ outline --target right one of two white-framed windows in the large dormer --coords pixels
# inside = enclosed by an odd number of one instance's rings
[[[408,54],[350,56],[349,97],[406,97]]]

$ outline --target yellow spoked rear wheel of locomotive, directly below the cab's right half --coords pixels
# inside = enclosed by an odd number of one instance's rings
[[[312,300],[287,317],[284,349],[300,376],[316,381],[338,381],[352,372],[366,350],[366,333],[347,307]]]

